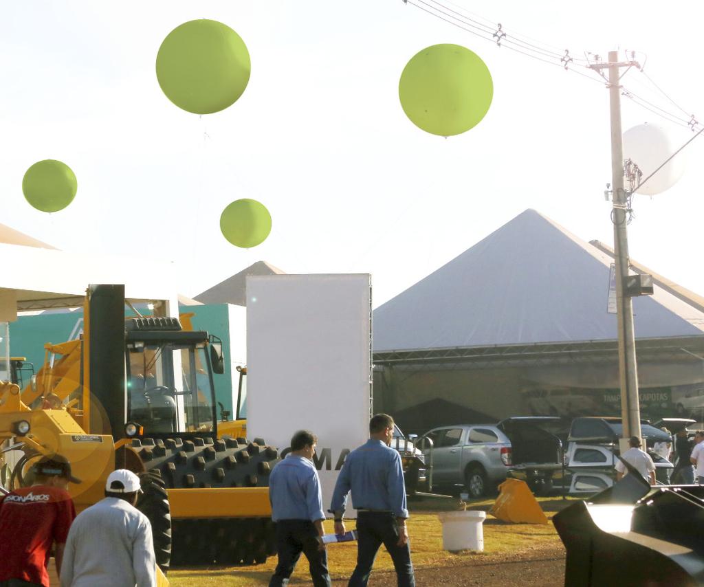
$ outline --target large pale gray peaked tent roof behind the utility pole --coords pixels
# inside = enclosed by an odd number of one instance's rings
[[[379,306],[374,351],[616,339],[610,256],[525,210]],[[704,333],[704,313],[655,284],[634,298],[637,338]]]

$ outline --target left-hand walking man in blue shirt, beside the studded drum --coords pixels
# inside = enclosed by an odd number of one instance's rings
[[[322,493],[313,455],[318,437],[299,430],[291,438],[291,453],[277,463],[269,476],[271,517],[276,522],[279,564],[269,587],[289,584],[301,553],[306,555],[315,587],[330,587],[323,535]]]

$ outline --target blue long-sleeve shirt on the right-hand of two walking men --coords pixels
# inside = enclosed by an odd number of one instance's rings
[[[401,455],[382,441],[370,438],[347,455],[337,477],[330,510],[344,511],[350,491],[358,510],[389,511],[396,517],[408,517]]]

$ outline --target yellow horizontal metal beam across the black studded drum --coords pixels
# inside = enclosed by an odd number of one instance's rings
[[[269,517],[268,487],[168,489],[172,518]]]

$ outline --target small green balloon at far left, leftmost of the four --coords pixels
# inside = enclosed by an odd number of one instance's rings
[[[75,198],[78,189],[76,176],[61,161],[38,161],[25,172],[22,192],[31,206],[42,212],[58,212]]]

